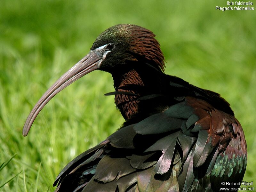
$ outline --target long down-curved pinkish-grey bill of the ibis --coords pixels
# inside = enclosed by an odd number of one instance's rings
[[[36,105],[28,115],[28,118],[24,124],[22,134],[27,136],[31,125],[38,113],[44,108],[44,106],[51,100],[58,92],[62,89],[79,79],[80,77],[96,70],[100,66],[102,61],[102,56],[99,52],[92,51],[86,55],[82,60],[80,60],[76,65],[70,68],[64,75],[62,75],[37,101]]]

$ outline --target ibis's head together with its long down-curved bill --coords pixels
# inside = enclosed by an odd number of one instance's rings
[[[118,73],[129,65],[148,63],[164,70],[164,56],[155,35],[148,29],[131,24],[119,24],[102,32],[82,60],[62,75],[38,100],[24,127],[26,136],[42,108],[58,92],[80,77],[96,70]],[[131,64],[132,63],[132,64]]]

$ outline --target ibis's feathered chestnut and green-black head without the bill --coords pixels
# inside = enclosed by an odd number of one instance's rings
[[[140,26],[119,24],[102,32],[93,43],[91,52],[100,52],[99,69],[110,73],[127,67],[130,61],[141,59],[164,70],[164,56],[154,37],[151,31]]]

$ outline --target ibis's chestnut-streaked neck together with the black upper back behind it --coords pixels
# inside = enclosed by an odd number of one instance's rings
[[[154,68],[120,69],[117,73],[112,73],[112,76],[117,92],[116,107],[129,123],[159,113],[184,100],[186,96],[205,100],[214,108],[234,115],[228,102],[218,93],[200,89],[178,77],[164,75],[161,71],[156,72]],[[155,97],[157,95],[160,96]]]

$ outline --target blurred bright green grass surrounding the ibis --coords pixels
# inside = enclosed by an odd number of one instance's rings
[[[256,183],[256,10],[216,11],[223,0],[0,1],[0,191],[53,191],[60,170],[123,123],[110,74],[95,71],[55,96],[27,137],[30,110],[105,29],[132,23],[152,30],[166,73],[219,92],[244,128],[244,181]],[[254,2],[253,7],[256,8]],[[254,184],[254,186],[256,186]]]

